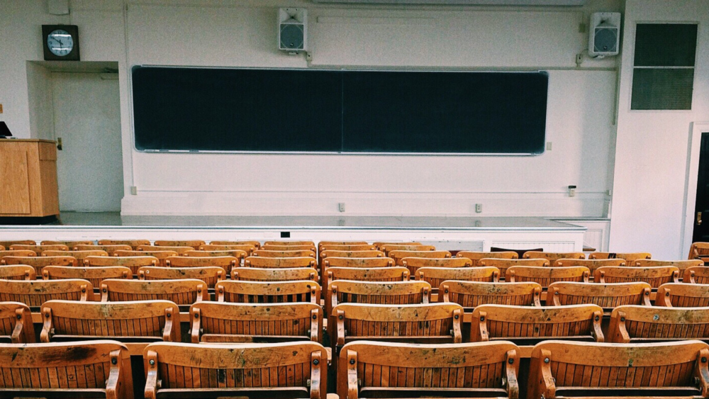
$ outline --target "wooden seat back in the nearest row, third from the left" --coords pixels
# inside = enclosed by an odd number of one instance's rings
[[[337,393],[347,399],[518,398],[518,353],[512,342],[350,342],[333,359],[339,361]]]

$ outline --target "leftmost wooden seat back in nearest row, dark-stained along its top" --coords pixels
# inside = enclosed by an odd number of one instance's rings
[[[6,397],[133,399],[128,348],[116,341],[0,347]]]

